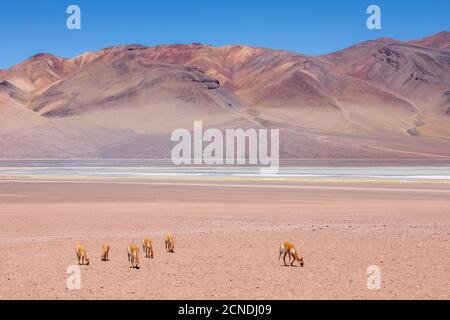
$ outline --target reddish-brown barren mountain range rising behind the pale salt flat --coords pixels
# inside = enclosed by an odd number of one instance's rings
[[[123,45],[0,71],[3,159],[166,159],[195,120],[279,128],[283,159],[450,159],[450,32],[323,56]]]

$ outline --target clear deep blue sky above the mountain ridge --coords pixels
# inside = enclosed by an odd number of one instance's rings
[[[66,8],[81,8],[68,30]],[[366,9],[382,10],[382,30]],[[40,52],[73,57],[117,44],[246,44],[325,54],[379,37],[450,30],[450,0],[1,0],[0,69]]]

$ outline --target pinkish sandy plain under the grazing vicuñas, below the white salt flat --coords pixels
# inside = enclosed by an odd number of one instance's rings
[[[130,269],[144,236],[155,258]],[[304,268],[277,263],[285,239]],[[91,264],[69,290],[77,243]],[[449,299],[450,186],[3,180],[0,284],[0,299]]]

